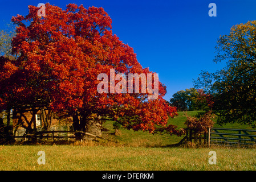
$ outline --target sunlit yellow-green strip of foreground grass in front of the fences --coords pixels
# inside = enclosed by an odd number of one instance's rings
[[[209,164],[209,151],[217,164]],[[38,151],[46,154],[39,165]],[[256,149],[0,146],[0,170],[256,170]]]

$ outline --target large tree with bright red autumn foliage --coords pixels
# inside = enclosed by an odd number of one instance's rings
[[[181,134],[176,126],[167,125],[176,109],[162,98],[166,88],[161,82],[155,100],[148,100],[148,92],[97,92],[97,76],[109,75],[111,69],[126,76],[152,73],[141,67],[133,48],[113,35],[112,20],[103,8],[70,4],[62,10],[48,3],[45,7],[46,16],[38,16],[39,8],[29,6],[27,16],[12,19],[17,25],[12,51],[19,56],[1,58],[2,109],[47,106],[62,117],[72,117],[75,130],[86,130],[91,115],[97,114],[135,131]]]

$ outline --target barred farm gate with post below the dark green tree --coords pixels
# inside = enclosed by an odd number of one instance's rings
[[[256,130],[225,129],[213,127],[208,131],[208,146],[254,146]]]

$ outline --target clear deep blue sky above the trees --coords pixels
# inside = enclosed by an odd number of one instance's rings
[[[212,61],[217,39],[229,34],[235,24],[256,20],[255,0],[0,0],[0,28],[12,16],[27,15],[28,5],[47,2],[62,9],[68,3],[103,7],[112,19],[113,33],[133,47],[144,68],[159,73],[167,86],[166,100],[192,88],[193,78],[202,70],[224,67]],[[216,17],[208,15],[209,3],[216,3]]]

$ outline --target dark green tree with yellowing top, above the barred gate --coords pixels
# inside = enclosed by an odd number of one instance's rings
[[[217,41],[214,61],[226,66],[209,73],[203,71],[195,83],[214,97],[217,123],[244,123],[256,126],[256,21],[238,24],[229,35]]]

